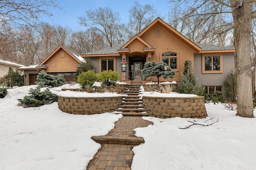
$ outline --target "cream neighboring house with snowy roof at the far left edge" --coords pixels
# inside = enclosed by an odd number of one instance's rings
[[[0,77],[4,77],[4,75],[7,75],[11,70],[18,71],[18,68],[23,66],[24,65],[0,59]],[[19,71],[19,73],[22,75],[21,71]]]

